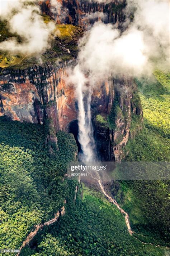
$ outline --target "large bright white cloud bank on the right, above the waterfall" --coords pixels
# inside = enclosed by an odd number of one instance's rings
[[[96,22],[81,39],[79,66],[94,83],[106,76],[150,75],[170,63],[169,1],[127,0],[126,30]],[[93,79],[92,79],[93,78]]]

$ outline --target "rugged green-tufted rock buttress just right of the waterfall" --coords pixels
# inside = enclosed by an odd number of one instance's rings
[[[92,111],[100,159],[121,161],[129,136],[133,137],[143,123],[142,106],[134,79],[113,79],[101,86],[97,94],[94,91]]]

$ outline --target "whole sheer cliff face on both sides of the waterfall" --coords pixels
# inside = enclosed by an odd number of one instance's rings
[[[3,69],[0,75],[0,116],[40,124],[49,120],[56,131],[68,131],[70,122],[77,120],[77,101],[74,87],[66,86],[63,79],[66,68]],[[135,94],[134,81],[125,78],[106,80],[93,91],[92,119],[102,160],[121,160],[123,147],[131,135],[132,116],[141,117],[142,123],[142,109],[140,102],[134,100]],[[97,121],[98,115],[105,118],[104,125]],[[113,123],[109,123],[109,118]]]

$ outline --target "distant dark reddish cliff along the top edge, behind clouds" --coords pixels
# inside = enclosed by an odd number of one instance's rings
[[[88,24],[93,24],[101,17],[89,18],[86,14],[103,12],[105,14],[105,23],[119,23],[124,21],[124,8],[126,5],[125,0],[112,0],[111,3],[98,3],[97,1],[82,1],[82,0],[61,0],[63,8],[67,9],[65,18],[61,21],[61,15],[58,14],[56,18],[57,23],[68,23],[87,27]],[[51,12],[50,1],[39,1],[42,12],[53,17]],[[63,17],[62,17],[63,19]]]

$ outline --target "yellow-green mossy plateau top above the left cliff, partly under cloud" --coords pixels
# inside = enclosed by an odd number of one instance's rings
[[[48,15],[42,15],[45,23],[51,21]],[[15,37],[18,42],[22,42],[16,34],[12,34],[9,31],[7,22],[0,20],[0,42]],[[43,65],[47,62],[52,64],[71,60],[77,56],[78,48],[77,42],[83,35],[83,30],[78,26],[71,24],[56,24],[56,29],[51,35],[51,48],[47,49],[45,53],[41,55],[23,55],[23,54],[9,54],[7,52],[0,51],[0,68],[14,67],[14,68],[27,68],[33,65]],[[69,53],[69,51],[70,53]]]

